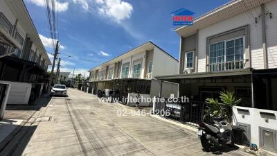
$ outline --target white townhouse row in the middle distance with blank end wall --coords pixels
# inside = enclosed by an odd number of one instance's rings
[[[93,94],[118,89],[122,96],[150,96],[152,78],[178,73],[178,60],[153,42],[146,42],[89,70]]]

